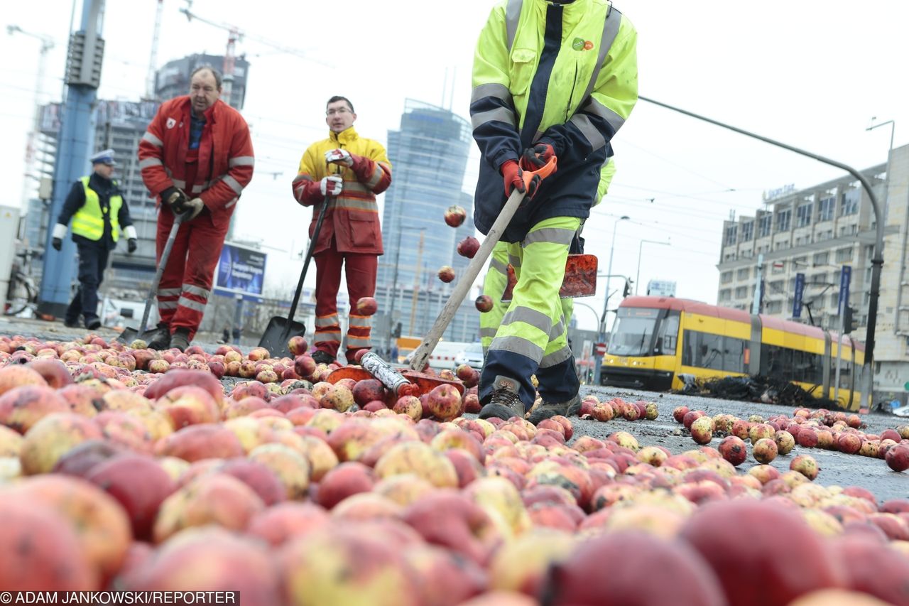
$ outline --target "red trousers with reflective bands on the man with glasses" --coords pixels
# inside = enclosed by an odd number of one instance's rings
[[[350,314],[347,326],[347,361],[355,361],[356,352],[372,347],[372,320],[356,313],[356,302],[375,295],[375,274],[379,257],[374,253],[338,252],[335,238],[331,247],[313,256],[315,259],[315,339],[314,347],[335,357],[341,347],[341,323],[338,319],[338,288],[341,266],[347,276]]]

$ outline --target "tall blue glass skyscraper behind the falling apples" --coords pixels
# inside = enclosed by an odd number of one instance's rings
[[[473,139],[470,123],[439,106],[407,99],[398,130],[388,132],[392,185],[385,192],[376,300],[384,318],[376,318],[373,339],[385,344],[397,322],[402,334],[425,336],[451,293],[438,269],[448,265],[456,276],[466,259],[455,251],[457,242],[474,233],[473,197],[462,191],[464,170]],[[464,226],[445,224],[445,209],[460,205],[467,211]],[[456,279],[455,279],[456,282]],[[445,332],[449,340],[475,340],[479,312],[469,297]]]

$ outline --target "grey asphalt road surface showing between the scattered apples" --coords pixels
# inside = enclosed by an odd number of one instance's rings
[[[0,334],[5,335],[26,335],[45,340],[66,341],[82,338],[86,332],[85,329],[65,328],[59,322],[0,318]],[[105,339],[113,339],[117,334],[115,331],[105,328],[96,332]],[[214,343],[198,344],[202,345],[206,351],[214,351],[217,347]],[[230,389],[236,380],[225,378],[225,386]],[[574,439],[584,435],[605,439],[614,431],[627,431],[642,446],[663,446],[674,454],[694,449],[698,446],[684,427],[673,419],[673,409],[677,406],[687,406],[693,410],[704,410],[710,416],[719,413],[732,414],[740,419],[747,419],[753,414],[761,415],[764,419],[774,414],[785,414],[791,417],[795,408],[681,394],[654,393],[634,389],[583,387],[581,393],[582,395],[593,393],[600,400],[608,400],[617,396],[631,401],[638,399],[655,401],[660,414],[654,420],[642,419],[636,421],[613,419],[608,422],[600,422],[573,418]],[[862,415],[862,419],[867,424],[867,427],[862,430],[868,433],[880,433],[884,429],[894,429],[899,425],[909,424],[909,419],[881,413]],[[714,439],[710,445],[715,448],[719,441],[719,439]],[[748,460],[739,466],[740,473],[744,473],[757,464],[751,457],[750,444],[748,449]],[[867,490],[871,490],[880,501],[909,498],[909,472],[894,472],[881,459],[869,459],[859,455],[846,455],[830,450],[805,449],[801,446],[795,446],[789,455],[778,456],[771,464],[780,471],[787,471],[789,470],[790,461],[798,454],[810,454],[817,460],[821,472],[815,481],[824,484],[824,486],[862,486]]]

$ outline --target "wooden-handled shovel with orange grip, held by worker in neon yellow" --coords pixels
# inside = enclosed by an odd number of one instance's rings
[[[555,157],[552,157],[543,167],[534,171],[525,170],[524,185],[530,187],[530,182],[535,176],[545,178],[551,175],[554,170]],[[435,375],[422,372],[422,370],[426,368],[426,362],[429,360],[430,355],[432,355],[433,349],[435,349],[439,339],[442,338],[442,335],[445,333],[445,328],[448,328],[448,324],[451,323],[454,314],[457,312],[458,308],[461,307],[464,298],[474,286],[474,280],[480,275],[480,270],[483,269],[486,259],[493,253],[493,247],[498,243],[502,234],[504,234],[505,228],[511,223],[514,213],[517,212],[517,208],[521,206],[521,202],[524,201],[524,196],[525,194],[519,192],[517,189],[512,191],[511,196],[508,197],[504,207],[499,211],[499,216],[496,217],[493,227],[489,228],[489,233],[486,234],[480,249],[476,251],[474,258],[467,268],[464,269],[464,274],[454,285],[451,296],[445,302],[445,308],[439,312],[438,318],[435,318],[435,324],[429,329],[429,334],[426,335],[423,342],[414,350],[408,369],[403,373],[398,372],[390,364],[385,362],[385,360],[381,359],[378,354],[369,351],[365,353],[360,360],[360,363],[362,364],[361,368],[348,366],[343,369],[337,369],[328,375],[326,380],[329,383],[335,383],[340,379],[346,378],[354,380],[379,379],[391,392],[390,398],[404,395],[423,395],[429,393],[429,391],[439,385],[453,385],[461,394],[464,394],[463,383],[442,379]]]

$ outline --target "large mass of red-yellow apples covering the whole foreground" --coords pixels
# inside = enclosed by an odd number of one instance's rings
[[[740,474],[708,446],[576,437],[564,417],[467,419],[473,388],[390,404],[371,379],[225,393],[209,360],[160,375],[128,369],[129,348],[0,344],[0,591],[909,603],[909,500]]]

